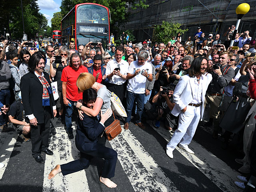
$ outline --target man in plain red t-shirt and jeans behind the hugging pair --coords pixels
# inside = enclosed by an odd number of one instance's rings
[[[78,92],[76,80],[83,72],[88,72],[88,69],[81,65],[81,56],[78,53],[73,53],[70,57],[69,66],[63,69],[60,79],[62,81],[63,102],[66,106],[65,122],[69,139],[74,138],[71,128],[74,102],[82,99],[82,93]]]

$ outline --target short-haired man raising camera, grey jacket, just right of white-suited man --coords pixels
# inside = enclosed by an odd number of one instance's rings
[[[218,129],[220,123],[220,102],[224,87],[227,86],[234,77],[234,69],[228,65],[232,52],[224,51],[220,54],[218,64],[212,65],[212,82],[208,86],[206,92],[206,104],[210,104],[210,118],[213,119],[213,134],[214,139],[218,138]]]

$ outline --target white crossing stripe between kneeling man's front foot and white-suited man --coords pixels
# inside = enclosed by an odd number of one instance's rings
[[[110,144],[136,192],[178,192],[130,130],[123,130]]]

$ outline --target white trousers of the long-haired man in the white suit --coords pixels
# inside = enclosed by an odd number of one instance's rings
[[[174,150],[178,143],[182,146],[190,144],[200,120],[200,112],[201,106],[188,105],[187,110],[180,113],[178,129],[176,129],[166,146],[168,150]]]

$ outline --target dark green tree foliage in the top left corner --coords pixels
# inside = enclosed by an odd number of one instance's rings
[[[23,15],[24,15],[24,30],[28,38],[34,38],[36,33],[47,28],[48,20],[39,12],[39,7],[36,0],[22,0]],[[0,4],[0,33],[6,32],[13,39],[22,38],[22,10],[20,0],[2,1]],[[40,35],[40,34],[39,34]]]

